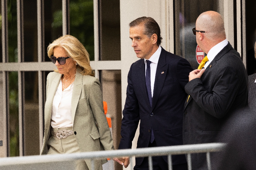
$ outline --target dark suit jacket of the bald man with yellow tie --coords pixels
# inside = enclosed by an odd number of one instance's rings
[[[248,76],[239,53],[228,43],[185,91],[190,98],[184,109],[183,143],[218,141],[231,112],[248,104]],[[205,154],[192,154],[192,169],[207,169],[205,161]]]

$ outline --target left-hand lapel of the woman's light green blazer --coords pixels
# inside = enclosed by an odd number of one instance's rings
[[[60,78],[62,74],[57,74],[53,79],[51,86],[49,88],[49,93],[47,96],[47,100],[45,102],[45,126],[49,127],[51,122],[51,112],[52,112],[52,102],[56,93],[56,90],[60,83]]]

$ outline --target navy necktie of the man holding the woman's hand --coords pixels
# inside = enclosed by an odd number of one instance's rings
[[[150,103],[150,107],[152,107],[152,92],[151,92],[151,72],[150,72],[150,60],[146,60],[147,62],[147,68],[146,68],[146,87],[147,87],[147,95],[148,95],[148,101]],[[150,136],[150,142],[153,143],[155,140],[153,129],[151,127],[151,136]]]

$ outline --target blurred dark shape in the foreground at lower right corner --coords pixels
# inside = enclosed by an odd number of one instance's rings
[[[255,81],[255,80],[254,80]],[[233,113],[221,134],[227,146],[211,157],[213,170],[256,169],[255,110],[243,109]]]

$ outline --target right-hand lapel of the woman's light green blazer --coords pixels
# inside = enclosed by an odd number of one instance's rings
[[[82,87],[83,87],[83,82],[82,82],[83,75],[81,75],[79,73],[79,71],[80,70],[78,68],[77,72],[76,72],[76,77],[74,80],[74,87],[73,87],[72,98],[71,98],[71,114],[72,114],[72,123],[73,124],[74,124],[74,117],[75,117],[76,110],[77,110],[77,104],[80,99],[80,95],[81,95]]]

